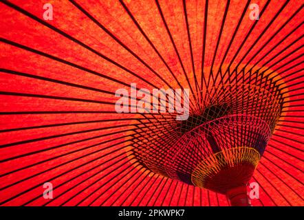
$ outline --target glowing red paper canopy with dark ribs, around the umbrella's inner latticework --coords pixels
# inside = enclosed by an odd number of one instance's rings
[[[257,1],[259,20],[243,0],[50,3],[52,20],[44,1],[0,3],[1,206],[228,206],[139,162],[155,115],[117,113],[115,93],[189,88],[193,110],[197,92],[240,82],[281,97],[252,205],[304,205],[301,2]]]

